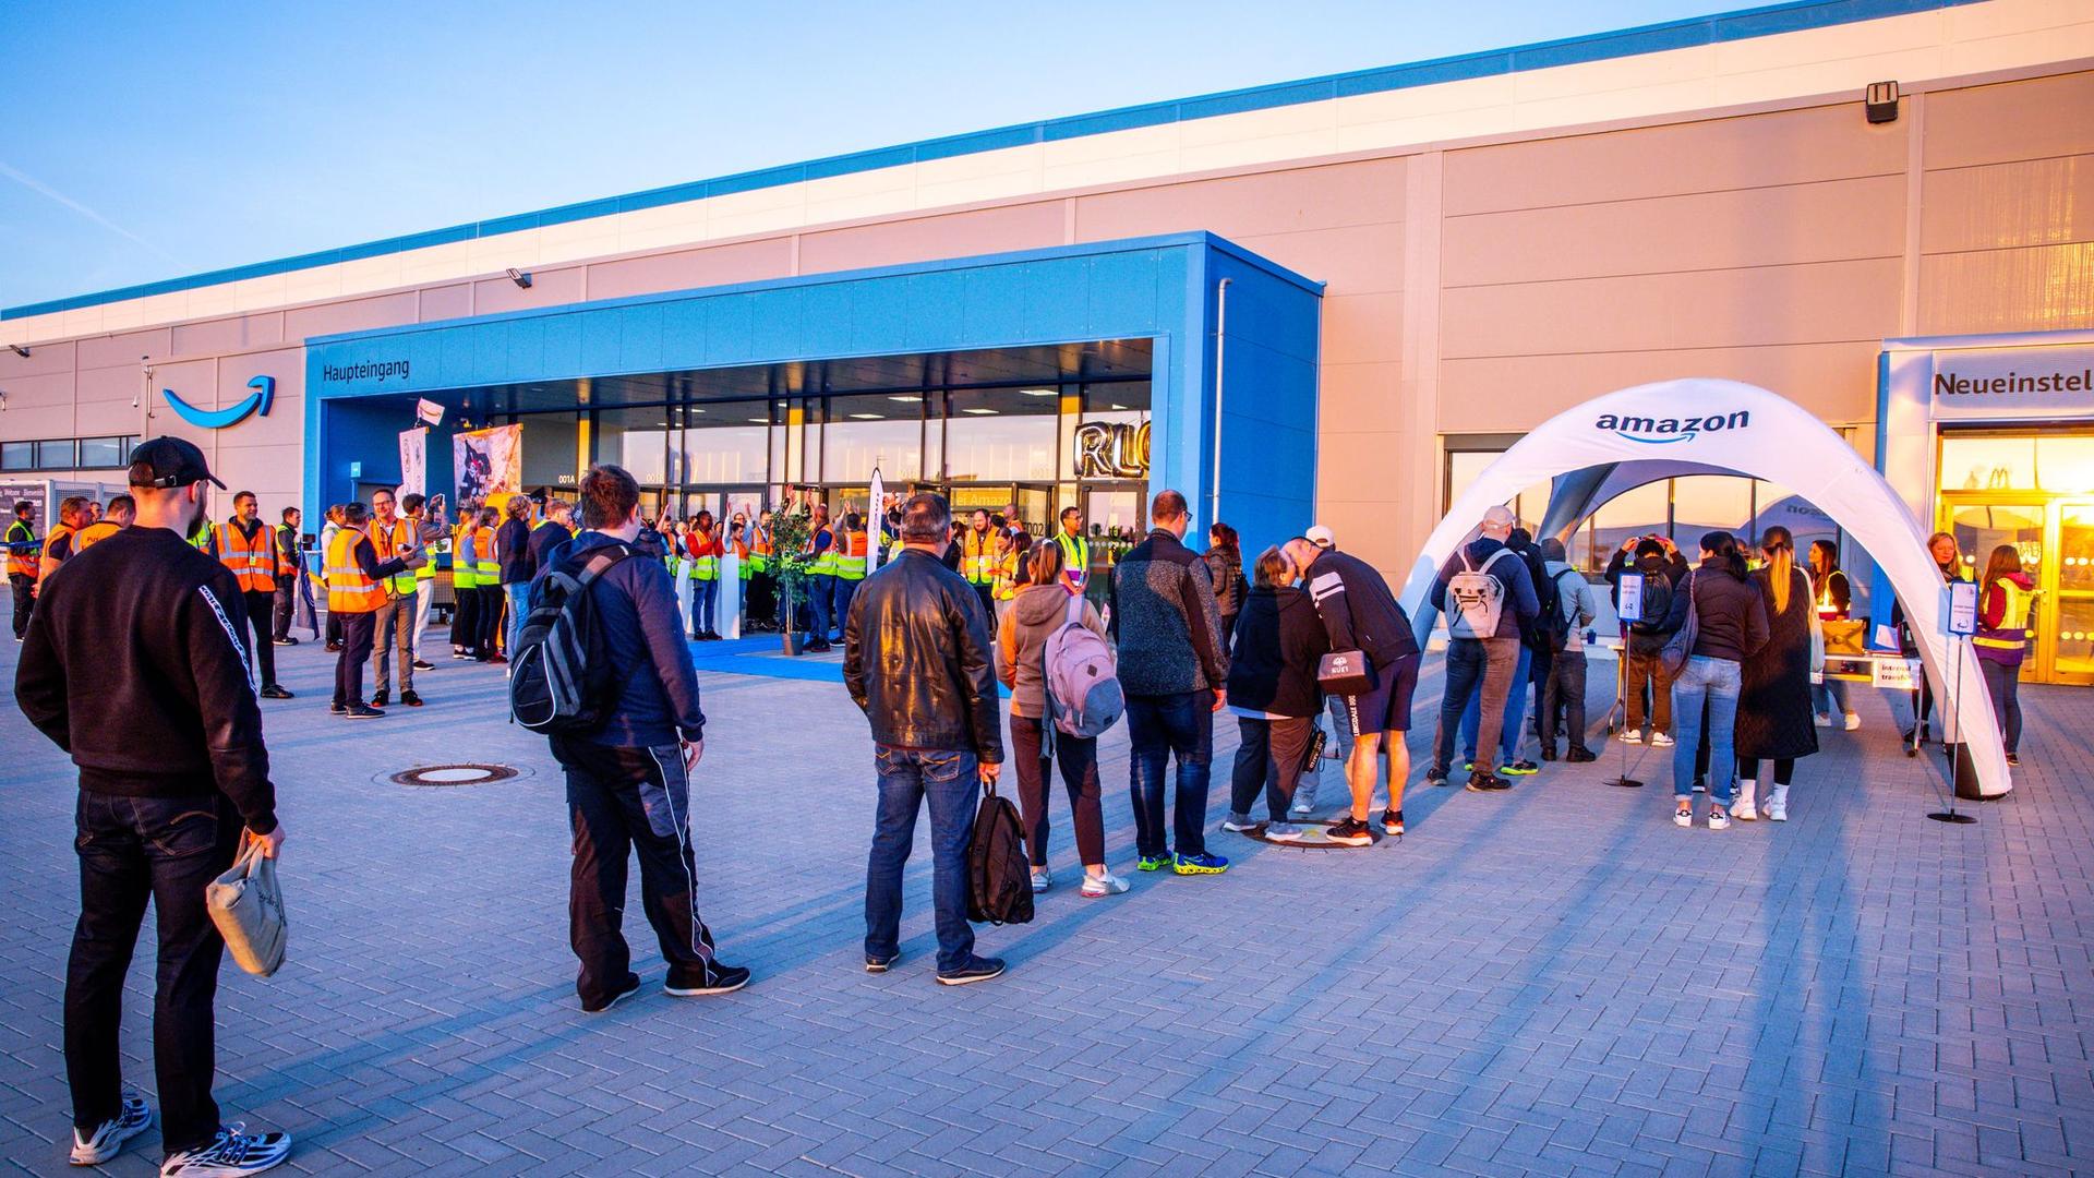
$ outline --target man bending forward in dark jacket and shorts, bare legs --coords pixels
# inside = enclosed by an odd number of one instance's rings
[[[1317,616],[1330,635],[1332,650],[1357,650],[1372,664],[1374,685],[1357,696],[1344,696],[1346,719],[1353,723],[1353,755],[1344,761],[1344,782],[1353,788],[1353,813],[1330,828],[1334,843],[1365,847],[1367,811],[1374,807],[1374,778],[1382,752],[1388,752],[1388,809],[1382,811],[1382,832],[1403,834],[1403,782],[1411,776],[1411,750],[1403,744],[1411,729],[1411,694],[1418,690],[1418,667],[1424,654],[1411,618],[1403,612],[1388,581],[1372,564],[1307,539],[1288,541],[1288,558],[1302,570],[1302,583],[1315,599]]]

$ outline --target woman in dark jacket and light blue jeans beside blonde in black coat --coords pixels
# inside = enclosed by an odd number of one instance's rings
[[[1694,752],[1700,748],[1702,706],[1709,708],[1709,830],[1730,828],[1732,773],[1738,767],[1732,734],[1744,660],[1767,646],[1767,606],[1753,585],[1738,539],[1709,532],[1700,564],[1673,587],[1667,633],[1679,633],[1694,612],[1694,646],[1673,677],[1673,824],[1694,826]]]

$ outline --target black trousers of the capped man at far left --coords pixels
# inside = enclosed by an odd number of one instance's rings
[[[226,943],[203,908],[203,887],[232,866],[241,817],[222,794],[130,799],[80,794],[80,924],[65,966],[65,1077],[73,1126],[92,1130],[124,1103],[117,1050],[124,975],[151,899],[159,926],[153,981],[153,1071],[165,1151],[218,1134],[211,1075],[218,960]]]

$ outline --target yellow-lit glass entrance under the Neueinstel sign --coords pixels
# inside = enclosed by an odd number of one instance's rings
[[[1956,535],[1975,579],[1996,547],[2014,545],[2035,581],[2021,677],[2094,683],[2094,499],[1943,495],[1941,526]]]

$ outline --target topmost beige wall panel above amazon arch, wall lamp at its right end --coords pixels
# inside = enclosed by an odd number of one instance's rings
[[[1903,166],[1899,124],[1870,128],[1859,107],[1811,107],[1449,151],[1447,214],[1807,184]]]

